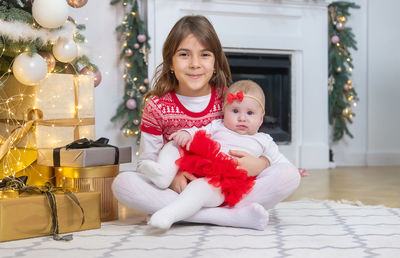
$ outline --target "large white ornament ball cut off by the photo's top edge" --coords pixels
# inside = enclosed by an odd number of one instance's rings
[[[32,16],[42,27],[58,28],[68,19],[68,4],[65,0],[35,0]]]

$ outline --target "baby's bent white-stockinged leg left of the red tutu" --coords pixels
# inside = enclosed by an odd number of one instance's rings
[[[159,188],[168,188],[178,172],[175,160],[179,158],[179,149],[171,141],[161,149],[157,161],[143,160],[140,172],[145,174]]]

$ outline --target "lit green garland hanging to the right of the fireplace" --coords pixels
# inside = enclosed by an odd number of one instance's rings
[[[339,141],[346,134],[353,138],[347,123],[355,116],[352,108],[357,106],[357,93],[352,85],[353,63],[349,48],[357,50],[355,36],[346,21],[350,8],[360,8],[344,1],[329,5],[329,123],[333,126],[332,140]]]

